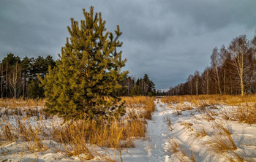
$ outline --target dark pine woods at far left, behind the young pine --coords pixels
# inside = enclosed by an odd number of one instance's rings
[[[45,77],[48,66],[55,66],[56,61],[52,56],[37,58],[15,56],[7,54],[0,62],[0,97],[19,98],[26,97],[31,99],[44,97],[44,90],[39,86],[37,74]]]

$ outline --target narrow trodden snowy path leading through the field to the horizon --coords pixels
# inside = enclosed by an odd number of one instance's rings
[[[152,115],[152,120],[148,120],[148,138],[151,141],[148,157],[150,157],[150,161],[165,161],[165,142],[167,142],[170,132],[165,117],[167,108],[160,99],[157,99],[155,104],[156,110]]]

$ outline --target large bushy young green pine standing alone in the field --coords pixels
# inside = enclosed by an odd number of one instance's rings
[[[69,119],[108,117],[123,112],[116,92],[128,72],[121,72],[126,59],[121,59],[122,42],[119,27],[115,36],[106,31],[101,13],[83,9],[85,20],[71,18],[67,27],[70,38],[61,49],[56,68],[50,69],[40,81],[47,99],[45,111]]]

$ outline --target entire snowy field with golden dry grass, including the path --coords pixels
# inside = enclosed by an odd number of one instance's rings
[[[0,100],[0,161],[256,161],[256,96],[123,97],[113,120]]]

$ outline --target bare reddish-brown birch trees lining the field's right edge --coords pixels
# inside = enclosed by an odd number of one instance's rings
[[[233,39],[228,47],[214,47],[211,66],[200,74],[195,71],[187,81],[170,87],[168,95],[256,93],[256,36]]]

